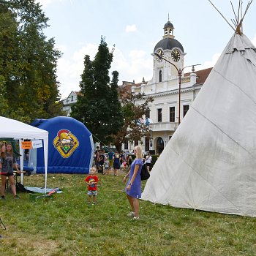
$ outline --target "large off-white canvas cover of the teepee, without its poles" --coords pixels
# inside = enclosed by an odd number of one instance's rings
[[[256,53],[238,30],[154,165],[142,199],[256,217]]]

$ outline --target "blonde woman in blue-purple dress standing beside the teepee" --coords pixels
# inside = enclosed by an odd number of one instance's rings
[[[136,156],[135,160],[132,162],[132,167],[126,176],[124,176],[124,182],[129,176],[129,181],[125,191],[127,192],[127,198],[129,204],[132,208],[132,212],[127,216],[133,217],[133,219],[139,219],[139,198],[141,197],[141,180],[140,171],[143,165],[143,152],[140,146],[135,146],[134,154]]]

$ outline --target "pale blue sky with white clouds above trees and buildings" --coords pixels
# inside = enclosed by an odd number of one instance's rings
[[[119,73],[122,81],[153,76],[154,46],[164,35],[169,20],[174,26],[175,39],[181,42],[185,66],[213,67],[233,35],[233,30],[208,0],[36,0],[49,18],[45,35],[54,38],[56,49],[62,53],[57,75],[61,99],[71,91],[79,91],[83,58],[91,60],[97,53],[101,37],[110,50],[114,47],[111,72]],[[230,0],[211,0],[227,21],[235,18]],[[233,0],[235,12],[238,0]],[[242,10],[248,1],[244,0]],[[256,45],[256,3],[253,1],[244,18],[243,31]],[[189,70],[185,70],[188,72]]]

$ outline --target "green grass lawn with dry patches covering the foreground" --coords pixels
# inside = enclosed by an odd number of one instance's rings
[[[63,193],[0,200],[0,255],[256,255],[256,219],[154,205],[140,200],[140,220],[127,217],[123,176],[99,174],[96,206],[87,205],[85,176],[48,175]],[[24,177],[43,187],[43,176]],[[143,181],[143,186],[145,181]],[[256,202],[255,202],[256,203]]]

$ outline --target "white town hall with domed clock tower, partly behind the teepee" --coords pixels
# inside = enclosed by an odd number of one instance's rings
[[[184,74],[184,48],[174,37],[173,24],[168,21],[164,26],[164,36],[154,48],[153,56],[153,78],[148,82],[132,86],[132,93],[145,93],[146,96],[154,98],[149,105],[150,112],[146,117],[151,118],[153,123],[149,125],[150,137],[143,138],[141,142],[133,145],[124,143],[124,150],[130,150],[135,145],[141,144],[144,151],[151,154],[161,154],[182,121],[190,105],[195,100],[203,83],[199,83],[199,75],[208,76],[211,69],[203,69]],[[164,59],[162,59],[162,58]],[[172,63],[172,64],[170,64]],[[178,71],[180,72],[180,83]],[[204,80],[201,82],[204,82]],[[181,90],[179,86],[181,85]],[[179,92],[180,91],[180,92]],[[141,102],[136,101],[139,105]]]

